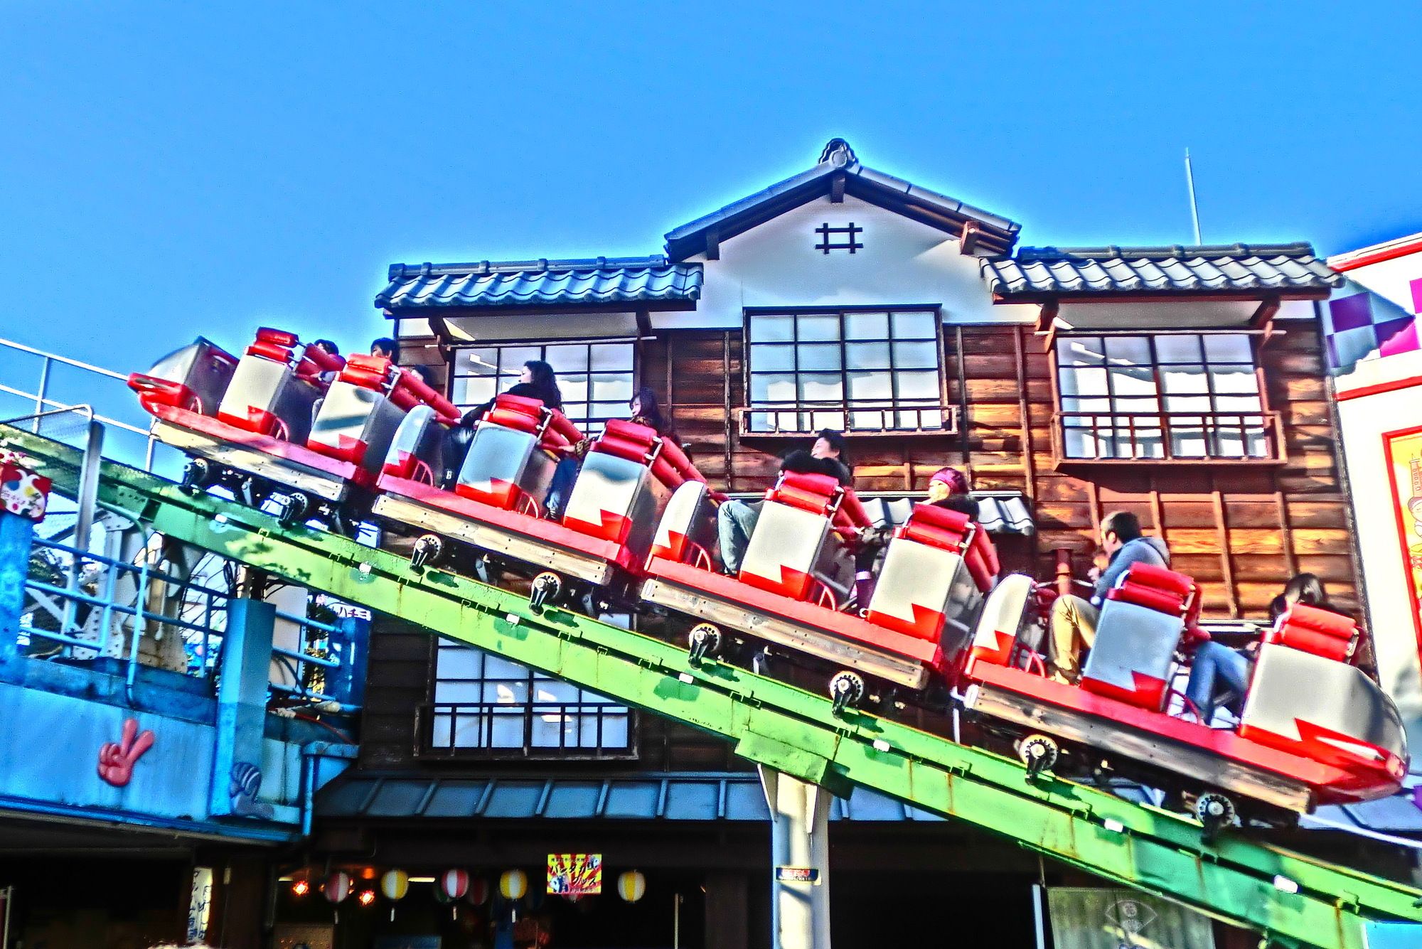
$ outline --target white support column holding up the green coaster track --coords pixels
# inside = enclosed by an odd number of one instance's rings
[[[830,794],[761,766],[771,808],[774,949],[829,949]]]

